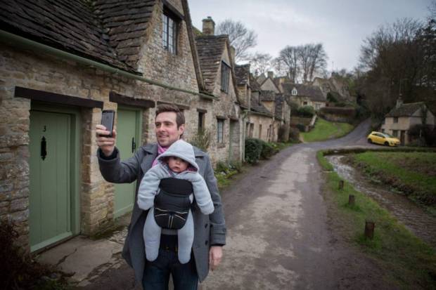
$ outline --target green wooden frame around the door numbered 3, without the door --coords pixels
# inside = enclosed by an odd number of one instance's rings
[[[53,112],[53,113],[63,113],[69,114],[71,118],[71,164],[70,164],[70,205],[71,205],[71,232],[72,237],[79,235],[80,233],[80,189],[82,185],[82,175],[80,174],[82,169],[81,162],[81,152],[82,152],[82,127],[80,126],[81,112],[77,107],[68,107],[63,105],[52,105],[49,103],[43,103],[32,100],[30,104],[30,110],[39,112]],[[28,145],[29,146],[29,145]],[[29,163],[29,160],[27,161]],[[32,192],[30,192],[32,194]],[[65,239],[70,239],[67,237]],[[48,244],[41,247],[41,249],[36,249],[35,251],[41,251],[49,246],[53,246],[63,242],[65,239],[61,239],[53,244]]]

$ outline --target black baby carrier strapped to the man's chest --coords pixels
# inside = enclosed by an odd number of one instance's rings
[[[192,183],[179,178],[162,178],[159,188],[155,196],[155,221],[160,228],[180,230],[191,209]]]

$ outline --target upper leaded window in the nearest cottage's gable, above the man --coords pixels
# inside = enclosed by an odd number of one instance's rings
[[[177,10],[165,1],[162,12],[162,48],[174,55],[177,55],[178,51],[181,20],[183,18]],[[172,32],[171,38],[170,32]],[[172,44],[169,44],[170,41]]]

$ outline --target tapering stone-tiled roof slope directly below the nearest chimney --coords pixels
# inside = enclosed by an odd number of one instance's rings
[[[229,37],[227,35],[202,35],[195,37],[198,60],[207,91],[214,91],[222,53]]]

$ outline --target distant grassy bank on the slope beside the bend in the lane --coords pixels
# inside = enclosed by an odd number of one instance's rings
[[[351,124],[331,122],[318,118],[312,131],[301,133],[301,136],[304,142],[318,142],[340,138],[350,133],[353,128]]]

